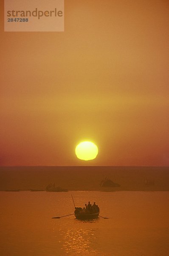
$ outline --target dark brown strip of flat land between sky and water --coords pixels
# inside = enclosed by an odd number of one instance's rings
[[[101,187],[108,178],[118,187]],[[169,167],[44,166],[0,167],[0,190],[44,190],[49,183],[68,190],[169,191]]]

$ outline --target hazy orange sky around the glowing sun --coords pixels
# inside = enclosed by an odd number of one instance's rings
[[[167,0],[65,0],[65,32],[0,12],[1,166],[169,166]]]

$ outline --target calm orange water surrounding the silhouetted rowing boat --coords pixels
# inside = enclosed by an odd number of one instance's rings
[[[101,216],[78,221],[96,201]],[[168,256],[169,192],[0,192],[1,256]]]

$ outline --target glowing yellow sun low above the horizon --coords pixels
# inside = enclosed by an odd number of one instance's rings
[[[98,147],[90,141],[83,141],[75,148],[76,156],[81,160],[93,160],[98,154]]]

